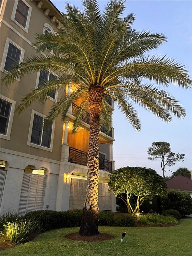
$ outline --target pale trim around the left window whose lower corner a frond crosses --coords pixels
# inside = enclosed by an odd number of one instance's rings
[[[0,70],[7,74],[8,71],[4,69],[5,67],[5,61],[6,61],[6,58],[7,58],[7,52],[8,52],[8,48],[9,48],[9,43],[13,44],[15,47],[17,47],[20,51],[21,51],[21,55],[20,55],[20,60],[19,62],[23,62],[23,59],[24,59],[24,54],[25,54],[25,50],[18,44],[16,44],[14,41],[12,41],[9,37],[7,37],[6,41],[5,41],[5,47],[4,47],[4,51],[3,51],[3,57],[2,57],[2,60],[1,60],[1,67],[0,67]],[[20,81],[20,78],[17,77],[16,78],[18,81]]]

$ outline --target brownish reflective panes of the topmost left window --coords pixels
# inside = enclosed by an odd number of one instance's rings
[[[15,20],[24,28],[26,28],[28,12],[29,7],[23,1],[19,0],[15,13]]]

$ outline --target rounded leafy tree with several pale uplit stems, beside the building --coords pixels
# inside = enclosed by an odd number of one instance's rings
[[[124,201],[128,213],[135,216],[144,200],[166,195],[167,187],[163,178],[153,169],[145,167],[122,167],[109,175],[109,188],[117,198]],[[130,200],[136,198],[135,205]]]

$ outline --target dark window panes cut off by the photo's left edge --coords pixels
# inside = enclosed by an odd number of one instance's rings
[[[11,103],[1,99],[0,133],[6,135],[11,111]]]

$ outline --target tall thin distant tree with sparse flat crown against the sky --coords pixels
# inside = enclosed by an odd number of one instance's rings
[[[161,169],[163,171],[163,179],[165,180],[166,166],[172,166],[176,161],[183,162],[185,154],[173,153],[170,149],[170,144],[164,141],[153,142],[152,147],[148,148],[147,153],[150,155],[149,160],[161,159]]]

